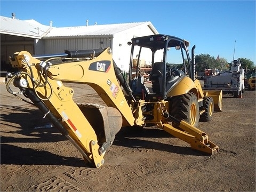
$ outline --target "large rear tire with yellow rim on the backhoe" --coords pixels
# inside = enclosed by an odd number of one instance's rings
[[[199,105],[195,93],[188,92],[183,95],[174,96],[170,111],[173,117],[186,121],[195,127],[198,126]]]

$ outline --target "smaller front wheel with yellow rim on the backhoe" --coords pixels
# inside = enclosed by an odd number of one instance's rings
[[[212,97],[204,97],[203,107],[205,112],[201,115],[200,121],[209,122],[212,119],[214,111],[214,103]]]

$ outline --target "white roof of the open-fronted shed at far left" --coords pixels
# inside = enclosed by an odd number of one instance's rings
[[[42,25],[35,20],[19,20],[0,16],[0,33],[31,38],[42,38],[50,26]]]

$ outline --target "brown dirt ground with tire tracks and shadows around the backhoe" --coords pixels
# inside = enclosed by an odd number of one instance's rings
[[[70,86],[76,102],[102,102],[88,86]],[[38,109],[0,87],[1,191],[255,191],[255,91],[223,95],[223,111],[199,123],[216,155],[156,127],[124,128],[95,169],[57,129],[42,127]]]

